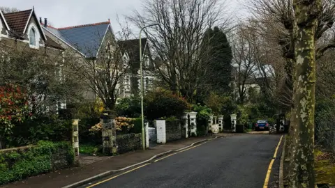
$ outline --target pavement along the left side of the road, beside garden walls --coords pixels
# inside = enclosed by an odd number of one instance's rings
[[[13,182],[2,187],[65,187],[75,182],[80,182],[87,178],[91,178],[95,175],[105,173],[107,171],[114,171],[123,169],[126,166],[131,166],[150,159],[154,155],[168,152],[171,150],[178,150],[186,146],[190,146],[192,143],[202,141],[204,139],[214,139],[216,136],[234,136],[239,134],[215,134],[212,136],[200,136],[191,137],[188,139],[181,139],[179,141],[172,141],[164,145],[158,145],[149,150],[136,150],[135,152],[128,152],[115,157],[107,157],[102,160],[96,160],[94,163],[88,163],[88,165],[78,166],[72,169],[63,169],[54,171],[52,173],[46,173],[35,177],[27,178],[19,182]]]

